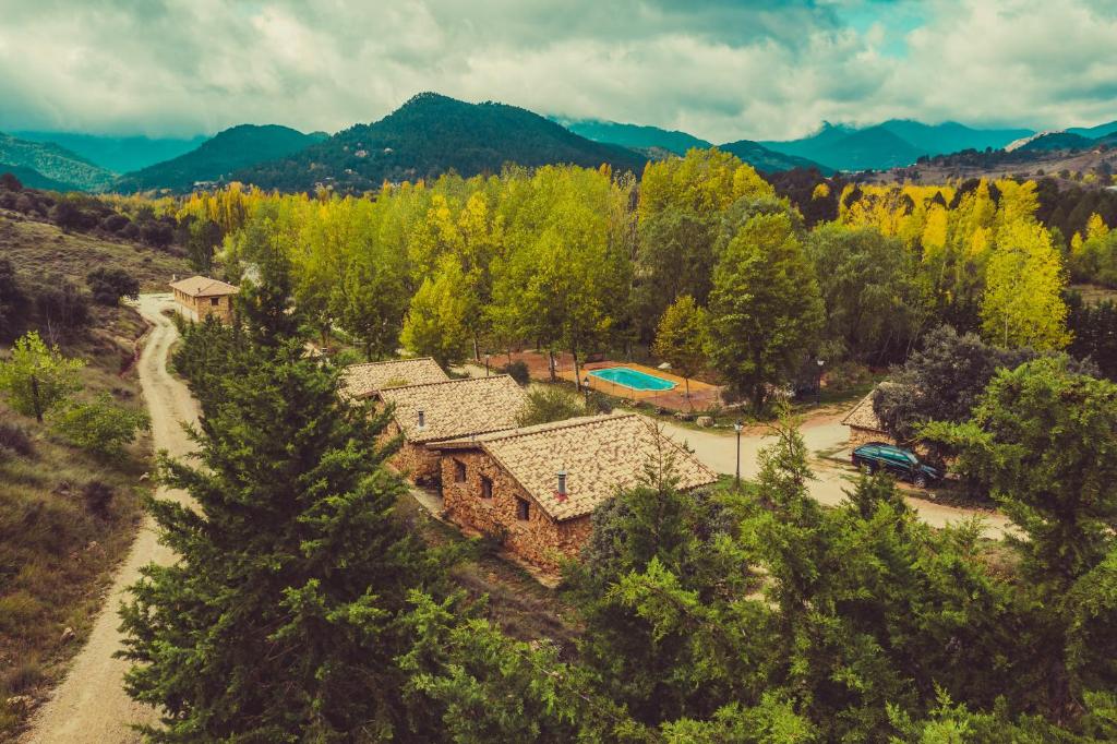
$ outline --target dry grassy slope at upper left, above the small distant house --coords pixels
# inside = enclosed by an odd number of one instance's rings
[[[85,286],[85,276],[98,266],[123,268],[140,280],[142,292],[166,292],[172,275],[192,274],[187,259],[147,246],[114,242],[88,235],[63,232],[54,225],[0,210],[0,256],[16,271],[39,277],[44,269]]]

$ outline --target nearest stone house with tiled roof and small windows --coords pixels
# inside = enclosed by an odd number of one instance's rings
[[[717,476],[634,413],[592,416],[433,442],[442,498],[456,523],[491,535],[521,559],[553,570],[575,557],[596,507],[669,459],[681,488]]]

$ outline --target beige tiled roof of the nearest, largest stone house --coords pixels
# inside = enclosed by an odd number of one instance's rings
[[[681,488],[717,480],[709,468],[634,413],[592,416],[442,442],[440,448],[479,447],[493,456],[553,518],[592,513],[617,492],[645,478],[649,462],[670,458]],[[566,471],[566,497],[557,474]]]

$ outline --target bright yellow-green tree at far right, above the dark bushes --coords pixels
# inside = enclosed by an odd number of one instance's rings
[[[1042,226],[1024,220],[1003,225],[986,268],[983,334],[1005,347],[1063,349],[1070,343],[1065,285],[1059,252]]]

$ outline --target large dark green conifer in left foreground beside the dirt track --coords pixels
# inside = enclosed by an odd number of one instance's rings
[[[408,592],[437,579],[394,518],[384,414],[338,401],[297,342],[249,346],[211,381],[200,465],[161,459],[190,502],[152,500],[171,565],[122,610],[128,693],[154,741],[380,741],[402,703]]]

